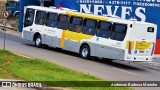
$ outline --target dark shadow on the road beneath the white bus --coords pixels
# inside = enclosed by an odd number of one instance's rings
[[[32,44],[31,43],[30,44],[25,44],[25,45],[35,47],[33,43]],[[56,53],[61,53],[61,54],[65,54],[65,55],[80,58],[79,54],[73,53],[73,52],[70,52],[70,51],[66,51],[66,50],[62,50],[60,48],[52,48],[52,47],[48,47],[48,46],[43,46],[40,49],[54,51]],[[83,59],[83,60],[85,60],[85,59]],[[100,64],[105,64],[105,65],[109,65],[109,66],[120,68],[120,69],[128,69],[128,70],[134,70],[134,71],[145,71],[145,69],[142,66],[132,65],[132,64],[129,64],[129,63],[123,63],[125,61],[117,61],[117,60],[110,60],[110,59],[105,59],[104,60],[104,59],[98,59],[98,58],[91,58],[88,61],[92,61],[92,62],[96,62],[96,63],[100,63]]]

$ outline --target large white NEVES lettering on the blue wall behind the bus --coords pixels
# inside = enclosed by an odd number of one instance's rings
[[[93,8],[93,13],[95,15],[117,15],[118,11],[121,10],[121,18],[140,18],[141,21],[146,20],[145,8],[137,7],[135,11],[133,11],[133,7],[131,6],[111,6],[111,5],[93,5],[93,4],[80,4],[80,12],[91,12]],[[104,13],[106,12],[106,13]],[[132,16],[135,14],[135,16]]]

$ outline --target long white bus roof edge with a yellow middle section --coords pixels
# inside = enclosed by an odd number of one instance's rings
[[[124,23],[124,24],[147,24],[147,25],[155,25],[153,23],[147,23],[147,22],[140,22],[136,20],[126,20],[121,19],[117,17],[107,17],[107,16],[100,16],[100,15],[93,15],[93,14],[87,14],[87,13],[80,13],[75,12],[73,10],[69,9],[57,9],[52,7],[42,7],[42,6],[27,6],[27,8],[35,9],[35,10],[41,10],[46,12],[53,12],[53,13],[59,13],[59,14],[66,14],[70,16],[77,16],[82,18],[88,18],[88,19],[95,19],[95,20],[102,20],[102,21],[110,21],[110,22],[117,22],[117,23]]]

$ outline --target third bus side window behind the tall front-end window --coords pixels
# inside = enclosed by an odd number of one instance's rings
[[[59,29],[67,30],[70,22],[70,17],[67,15],[60,14],[58,16],[58,26]]]

